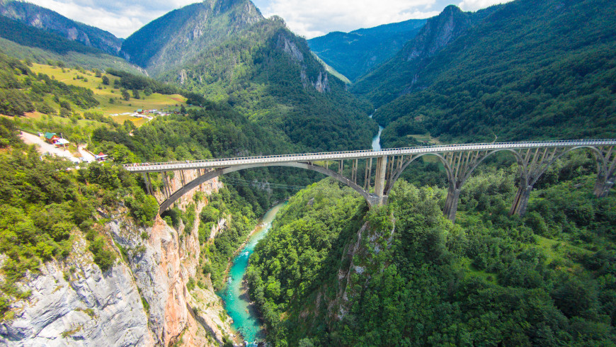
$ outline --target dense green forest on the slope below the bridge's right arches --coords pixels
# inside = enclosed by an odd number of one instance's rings
[[[248,278],[276,346],[611,345],[616,198],[585,153],[509,216],[515,166],[484,166],[451,224],[445,190],[399,181],[389,205],[321,181],[290,199]],[[362,225],[365,223],[365,228]]]

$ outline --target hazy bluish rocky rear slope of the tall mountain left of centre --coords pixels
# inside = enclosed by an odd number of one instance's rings
[[[206,0],[171,11],[122,42],[122,54],[153,76],[262,21],[248,0]]]

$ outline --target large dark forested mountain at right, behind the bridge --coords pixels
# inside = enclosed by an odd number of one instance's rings
[[[518,0],[483,15],[449,7],[352,91],[380,106],[388,147],[426,133],[457,142],[614,137],[615,11],[606,0]]]

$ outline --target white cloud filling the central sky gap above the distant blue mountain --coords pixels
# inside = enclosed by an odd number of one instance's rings
[[[436,16],[435,0],[271,0],[264,16],[278,15],[291,30],[307,38],[331,31],[350,31],[376,25]]]

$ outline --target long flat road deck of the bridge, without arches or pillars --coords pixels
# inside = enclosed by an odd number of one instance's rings
[[[132,172],[160,172],[173,170],[189,169],[208,169],[226,166],[246,165],[246,164],[272,164],[272,163],[292,163],[307,161],[341,160],[341,159],[365,159],[376,158],[389,155],[411,155],[411,154],[442,154],[445,152],[464,152],[464,151],[492,151],[503,149],[534,149],[551,147],[583,147],[583,146],[613,146],[616,140],[561,140],[561,141],[532,141],[532,142],[496,142],[478,144],[445,144],[440,146],[428,147],[406,147],[383,149],[373,151],[365,149],[360,151],[346,152],[322,152],[322,153],[303,153],[303,154],[278,154],[261,157],[237,157],[224,159],[205,159],[195,161],[170,161],[166,163],[138,163],[125,164],[124,167]]]

